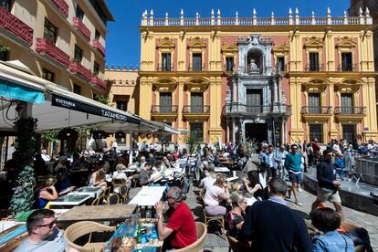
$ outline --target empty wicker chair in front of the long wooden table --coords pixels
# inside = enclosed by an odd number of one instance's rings
[[[80,252],[97,252],[101,251],[105,242],[90,242],[91,234],[94,232],[114,231],[115,226],[104,226],[92,221],[80,221],[71,226],[68,226],[64,232],[64,237],[67,241],[68,247],[79,250]],[[84,246],[79,246],[74,242],[81,236],[89,235],[88,242]]]

